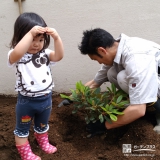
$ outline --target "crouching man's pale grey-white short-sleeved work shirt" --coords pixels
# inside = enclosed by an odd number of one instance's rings
[[[131,104],[150,103],[160,96],[160,45],[138,37],[121,34],[114,64],[125,70]],[[111,66],[103,65],[95,76],[102,84],[107,80],[106,72]]]

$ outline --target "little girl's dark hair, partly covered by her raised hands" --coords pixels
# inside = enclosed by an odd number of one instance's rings
[[[29,32],[34,26],[47,27],[47,24],[41,16],[32,12],[25,12],[21,14],[15,21],[14,34],[10,43],[10,48],[14,48],[24,35]],[[44,46],[43,49],[47,48],[50,44],[50,36],[44,34]]]

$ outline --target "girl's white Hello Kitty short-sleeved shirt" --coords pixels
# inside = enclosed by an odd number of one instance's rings
[[[15,69],[15,90],[24,96],[37,97],[52,91],[54,87],[50,65],[55,62],[49,60],[50,49],[37,54],[26,53],[18,62],[10,64],[8,52],[8,66]]]

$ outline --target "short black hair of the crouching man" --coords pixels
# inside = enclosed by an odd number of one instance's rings
[[[95,28],[91,30],[86,30],[83,32],[83,37],[78,49],[82,54],[95,54],[99,57],[100,54],[97,52],[98,47],[112,47],[115,39],[113,36],[104,29]]]

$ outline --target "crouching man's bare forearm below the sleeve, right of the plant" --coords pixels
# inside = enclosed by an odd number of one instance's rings
[[[105,122],[107,129],[117,128],[129,124],[145,115],[146,104],[130,105],[124,111],[124,115],[117,116],[117,121],[108,123]]]

